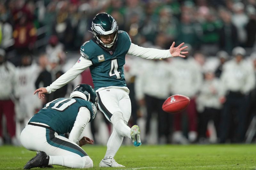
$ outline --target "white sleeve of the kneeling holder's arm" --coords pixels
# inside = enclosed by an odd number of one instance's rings
[[[84,131],[85,126],[91,119],[91,113],[86,107],[80,107],[79,112],[76,116],[76,121],[69,134],[68,139],[79,145],[80,136]]]

